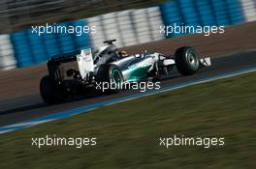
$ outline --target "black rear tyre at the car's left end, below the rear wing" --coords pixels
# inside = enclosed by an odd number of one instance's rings
[[[41,79],[40,94],[48,104],[60,103],[66,99],[65,91],[60,86],[57,86],[49,75]]]

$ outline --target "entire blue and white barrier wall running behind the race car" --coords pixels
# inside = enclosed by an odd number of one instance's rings
[[[99,32],[93,35],[83,33],[81,36],[77,36],[77,34],[43,34],[39,36],[38,34],[32,34],[31,29],[17,31],[7,36],[0,36],[0,38],[3,37],[3,40],[5,40],[2,43],[7,43],[6,46],[8,46],[0,48],[0,62],[3,62],[0,63],[0,68],[20,68],[43,63],[52,55],[74,52],[87,46],[98,46],[110,36],[115,37],[115,39],[118,39],[118,36],[120,38],[126,36],[125,41],[127,42],[123,43],[130,45],[144,42],[136,42],[138,37],[140,38],[139,34],[142,35],[142,40],[148,35],[148,37],[156,37],[156,40],[183,35],[181,33],[169,34],[168,37],[164,37],[159,34],[159,24],[169,26],[174,26],[175,24],[188,26],[232,26],[256,20],[254,5],[256,5],[254,0],[171,0],[153,7],[151,10],[148,8],[114,13],[113,15],[115,16],[113,17],[116,18],[111,20],[116,20],[118,29],[109,28],[108,20],[103,17],[109,14],[87,18],[88,23],[85,19],[80,19],[58,24],[65,26],[84,26],[87,24],[99,26],[99,29],[97,29]],[[130,31],[132,28],[129,26],[133,27],[135,31]],[[129,28],[129,31],[125,30],[127,28]],[[139,33],[140,31],[141,33]],[[7,41],[5,37],[10,37],[11,41]],[[132,37],[136,37],[136,39],[134,38],[134,40]],[[148,40],[154,41],[154,39]],[[119,42],[121,41],[123,40]],[[8,50],[8,52],[2,50]],[[14,62],[10,62],[7,59],[8,57]]]

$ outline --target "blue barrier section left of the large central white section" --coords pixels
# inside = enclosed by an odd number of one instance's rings
[[[85,26],[84,20],[63,22],[60,26]],[[11,34],[11,41],[15,49],[16,66],[26,67],[46,62],[52,55],[77,51],[90,46],[88,34],[76,33],[38,35],[32,29],[17,31]]]

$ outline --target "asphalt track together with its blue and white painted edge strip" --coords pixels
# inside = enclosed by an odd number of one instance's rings
[[[138,99],[255,71],[256,52],[217,57],[212,59],[211,62],[211,67],[199,70],[191,76],[181,76],[179,73],[174,73],[170,78],[161,81],[160,90],[151,90],[144,93],[139,91],[122,91],[118,94],[84,97],[83,99],[56,105],[45,104],[39,94],[12,100],[1,100],[0,133],[68,118],[120,101]]]

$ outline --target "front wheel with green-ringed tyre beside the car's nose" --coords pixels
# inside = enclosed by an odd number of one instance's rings
[[[191,75],[199,70],[200,61],[193,47],[184,46],[176,50],[176,69],[182,75]]]

